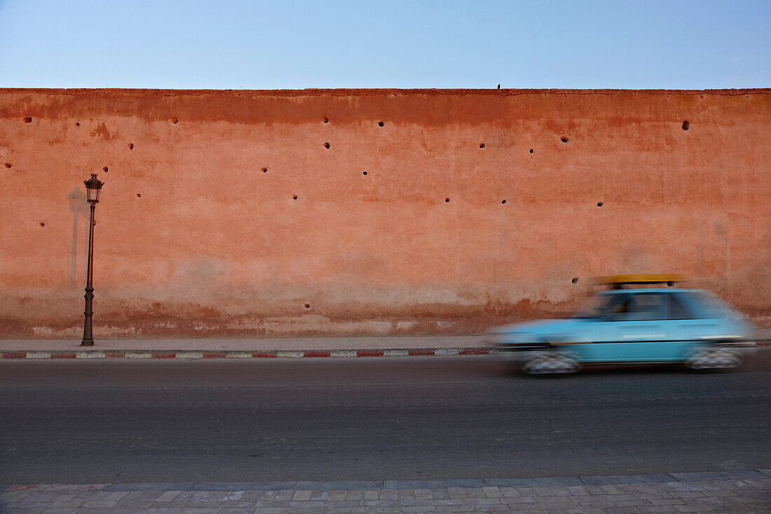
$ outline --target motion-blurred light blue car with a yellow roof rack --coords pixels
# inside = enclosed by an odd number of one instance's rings
[[[682,363],[731,368],[752,326],[699,289],[673,288],[682,276],[598,279],[598,291],[573,316],[501,326],[493,344],[529,374],[572,373],[586,364]],[[661,287],[650,287],[661,284]],[[744,345],[754,346],[754,345]]]

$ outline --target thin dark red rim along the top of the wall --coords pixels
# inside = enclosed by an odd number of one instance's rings
[[[100,94],[156,94],[161,96],[207,96],[207,95],[260,95],[260,96],[384,96],[384,95],[533,95],[533,94],[574,94],[574,95],[615,95],[615,94],[678,94],[678,95],[744,95],[769,94],[771,88],[726,89],[726,90],[544,90],[544,89],[305,89],[305,90],[163,90],[129,88],[0,88],[0,94],[36,93],[50,95],[100,95]]]

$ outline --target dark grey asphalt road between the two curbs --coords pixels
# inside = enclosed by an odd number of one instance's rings
[[[771,467],[771,352],[731,373],[493,357],[0,362],[0,483],[527,478]]]

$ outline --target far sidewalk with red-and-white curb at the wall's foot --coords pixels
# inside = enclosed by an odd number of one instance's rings
[[[758,346],[771,329],[756,330]],[[749,343],[749,346],[753,346]],[[408,357],[496,353],[488,336],[300,337],[285,339],[0,340],[0,359],[207,359],[275,357]]]

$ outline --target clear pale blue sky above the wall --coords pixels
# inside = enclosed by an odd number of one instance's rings
[[[771,86],[771,0],[0,0],[0,87]]]

